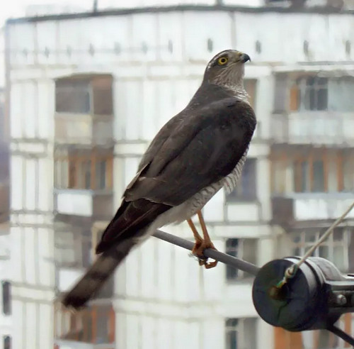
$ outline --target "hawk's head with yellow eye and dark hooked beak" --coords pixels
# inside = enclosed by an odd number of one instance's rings
[[[203,82],[224,87],[243,87],[244,64],[251,60],[246,53],[236,50],[224,50],[212,57],[207,64]]]

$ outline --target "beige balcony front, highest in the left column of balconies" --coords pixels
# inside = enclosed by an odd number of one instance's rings
[[[56,113],[57,144],[112,145],[113,117],[89,113]]]

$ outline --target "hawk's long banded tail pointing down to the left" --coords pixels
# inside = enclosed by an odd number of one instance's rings
[[[115,268],[137,243],[138,239],[127,238],[102,253],[79,282],[64,295],[62,304],[74,309],[84,306],[113,275]]]

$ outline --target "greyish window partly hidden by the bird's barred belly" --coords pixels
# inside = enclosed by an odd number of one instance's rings
[[[244,164],[236,188],[227,196],[227,201],[254,201],[256,199],[256,159],[249,158]]]

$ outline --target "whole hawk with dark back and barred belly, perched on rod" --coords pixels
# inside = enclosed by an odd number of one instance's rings
[[[224,50],[210,60],[190,103],[157,133],[123,194],[122,204],[96,247],[100,254],[62,303],[83,306],[135,246],[157,228],[188,221],[200,264],[205,248],[215,248],[201,209],[219,189],[231,192],[241,175],[256,128],[244,89],[249,55]],[[191,217],[198,214],[202,236]]]

